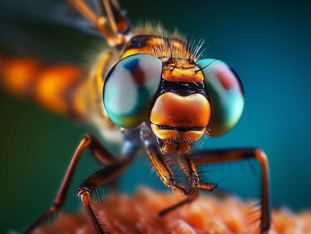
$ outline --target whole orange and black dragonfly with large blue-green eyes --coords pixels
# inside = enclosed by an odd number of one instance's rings
[[[244,92],[233,68],[220,58],[203,58],[201,41],[187,41],[178,33],[165,34],[157,26],[132,27],[116,0],[98,0],[96,6],[85,0],[69,2],[92,23],[110,49],[100,54],[87,73],[70,65],[44,67],[37,60],[7,59],[2,83],[13,92],[29,93],[55,112],[86,119],[104,139],[122,142],[121,153],[111,154],[100,139],[85,134],[53,205],[24,233],[30,234],[64,205],[79,158],[86,148],[104,165],[83,180],[77,191],[97,234],[105,231],[92,207],[92,194],[119,176],[142,148],[163,184],[185,195],[183,201],[159,215],[191,203],[200,190],[213,192],[217,188],[217,183],[202,179],[199,166],[257,160],[261,166],[259,228],[262,234],[268,233],[271,201],[264,151],[259,148],[191,150],[203,137],[222,136],[239,121]],[[16,74],[15,67],[24,70]],[[12,78],[16,75],[18,83]],[[184,173],[183,181],[172,167]]]

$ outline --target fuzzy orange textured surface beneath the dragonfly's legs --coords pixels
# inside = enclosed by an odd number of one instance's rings
[[[235,198],[216,199],[201,194],[191,204],[159,217],[163,208],[183,197],[178,193],[164,194],[143,188],[134,196],[111,194],[96,214],[106,232],[113,234],[258,234],[259,212],[251,212],[252,204]],[[86,214],[85,214],[86,215]],[[288,210],[273,211],[269,234],[311,234],[311,212],[298,215]],[[34,234],[94,234],[83,212],[71,215],[60,213],[51,225],[37,228]]]

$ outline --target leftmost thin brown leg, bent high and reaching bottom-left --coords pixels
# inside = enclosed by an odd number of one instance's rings
[[[58,211],[66,198],[69,185],[71,183],[72,177],[74,175],[75,169],[78,164],[78,160],[81,156],[82,151],[85,147],[89,147],[92,154],[100,160],[104,164],[112,164],[117,161],[101,144],[100,142],[91,134],[85,134],[80,141],[77,150],[68,166],[66,174],[63,178],[61,186],[56,194],[53,205],[42,214],[25,232],[24,234],[29,234],[31,231],[41,224],[44,220],[46,220],[49,216],[51,216],[54,212]]]

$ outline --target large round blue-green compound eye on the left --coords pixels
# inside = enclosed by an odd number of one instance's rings
[[[162,62],[148,54],[121,59],[109,71],[103,88],[104,106],[120,127],[133,128],[149,116],[161,81]]]

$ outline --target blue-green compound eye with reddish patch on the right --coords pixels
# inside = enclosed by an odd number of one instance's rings
[[[202,69],[211,105],[211,119],[207,125],[210,136],[224,135],[236,125],[242,115],[242,84],[234,70],[221,60],[205,58],[197,64]]]

